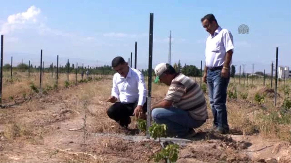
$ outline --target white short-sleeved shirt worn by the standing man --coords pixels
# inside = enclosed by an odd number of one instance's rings
[[[228,50],[233,51],[233,35],[229,30],[219,26],[214,35],[209,35],[206,39],[205,65],[208,68],[223,66]],[[230,65],[231,63],[232,60]]]

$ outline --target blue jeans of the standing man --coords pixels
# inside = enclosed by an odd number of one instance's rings
[[[230,74],[229,74],[230,75]],[[219,130],[229,131],[226,111],[228,78],[221,77],[221,69],[207,70],[207,85],[209,89],[209,100],[212,114],[214,117],[213,125]]]

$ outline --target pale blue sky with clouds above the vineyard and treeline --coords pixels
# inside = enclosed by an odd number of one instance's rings
[[[270,72],[279,47],[279,65],[290,65],[290,2],[286,1],[3,1],[0,31],[4,35],[4,62],[39,65],[40,49],[45,66],[67,59],[78,65],[111,63],[117,55],[126,60],[138,42],[137,68],[148,67],[149,15],[154,13],[153,68],[168,61],[168,36],[172,31],[172,64],[200,67],[208,33],[200,19],[208,13],[232,32],[233,64]],[[9,19],[8,19],[9,18]],[[249,34],[238,34],[246,24]],[[134,61],[134,57],[133,57]],[[275,62],[274,62],[275,63]],[[134,62],[133,62],[134,64]]]

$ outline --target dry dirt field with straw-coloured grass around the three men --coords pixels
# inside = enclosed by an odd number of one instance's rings
[[[107,117],[111,103],[105,101],[111,83],[107,79],[72,84],[48,89],[45,95],[33,92],[29,82],[3,86],[4,104],[24,102],[0,110],[1,162],[154,162],[152,156],[161,149],[157,142],[94,134],[143,135],[136,131],[135,118],[129,126],[133,132],[125,132]],[[180,146],[177,162],[291,162],[291,113],[283,109],[289,105],[288,100],[284,102],[288,87],[284,93],[283,83],[279,85],[276,107],[268,87],[263,88],[262,81],[249,81],[247,87],[243,82],[238,85],[238,79],[232,81],[227,102],[231,134],[210,131],[213,118],[208,110],[210,119],[196,130],[195,141]],[[152,90],[152,102],[156,102],[167,87],[153,84]]]

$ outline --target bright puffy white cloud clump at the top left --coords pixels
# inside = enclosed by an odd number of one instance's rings
[[[9,34],[16,29],[25,28],[29,24],[35,24],[38,21],[40,8],[31,6],[25,12],[9,15],[7,21],[2,24],[1,34]]]

